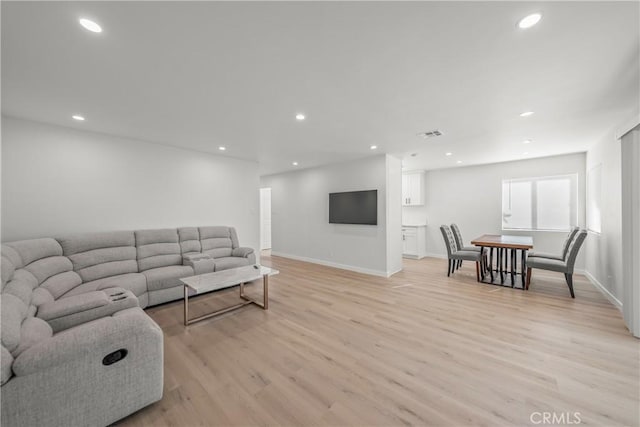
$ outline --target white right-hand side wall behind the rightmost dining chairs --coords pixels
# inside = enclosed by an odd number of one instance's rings
[[[585,241],[585,271],[620,304],[622,299],[622,178],[620,141],[613,134],[587,152],[586,170],[601,166],[601,233]]]

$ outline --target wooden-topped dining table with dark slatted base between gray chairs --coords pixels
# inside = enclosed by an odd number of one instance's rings
[[[522,290],[525,290],[527,279],[527,251],[533,248],[533,237],[531,236],[509,236],[503,234],[483,234],[473,239],[471,244],[478,246],[482,253],[487,248],[488,260],[483,257],[483,271],[489,273],[490,281],[487,281],[487,274],[483,274],[482,282],[492,285],[505,286],[505,275],[511,277],[511,287],[515,287],[516,276],[522,278]],[[493,267],[493,252],[496,252],[496,265]],[[517,272],[518,251],[520,251],[520,273]],[[488,262],[488,265],[486,265]],[[494,274],[496,277],[494,279]],[[499,280],[499,283],[496,281]],[[508,285],[507,285],[508,286]]]

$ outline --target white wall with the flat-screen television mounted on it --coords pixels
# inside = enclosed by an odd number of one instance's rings
[[[272,253],[369,274],[392,273],[387,269],[386,167],[387,158],[380,155],[262,177],[261,186],[271,187]],[[377,226],[329,224],[329,193],[376,189]]]

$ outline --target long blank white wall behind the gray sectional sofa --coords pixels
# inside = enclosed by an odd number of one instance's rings
[[[258,164],[2,118],[3,241],[193,225],[259,248]]]

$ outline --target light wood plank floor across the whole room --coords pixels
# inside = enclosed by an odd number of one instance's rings
[[[523,292],[478,284],[471,263],[447,278],[441,259],[390,279],[263,264],[280,270],[268,311],[185,328],[182,302],[147,310],[165,333],[164,397],[119,424],[638,425],[639,341],[582,276],[572,300],[538,270]],[[197,297],[192,315],[236,293]]]

